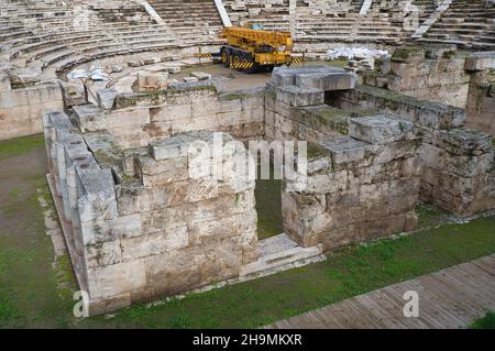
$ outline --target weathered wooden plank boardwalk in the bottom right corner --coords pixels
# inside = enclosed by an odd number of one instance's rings
[[[403,295],[416,290],[419,317],[405,317]],[[462,328],[495,310],[495,255],[459,264],[416,279],[355,296],[268,329],[302,328]]]

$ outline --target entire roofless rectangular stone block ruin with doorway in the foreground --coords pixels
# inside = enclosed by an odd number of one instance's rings
[[[89,314],[411,231],[419,195],[460,216],[495,207],[492,139],[463,127],[464,110],[354,84],[336,69],[277,69],[264,89],[118,95],[74,107],[75,124],[44,114],[51,189]],[[289,249],[267,255],[254,179],[234,157],[257,139],[308,141],[306,174],[304,157],[286,160],[297,160],[283,180]]]

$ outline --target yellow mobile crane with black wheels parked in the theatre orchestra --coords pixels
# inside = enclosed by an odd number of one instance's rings
[[[271,70],[273,67],[293,63],[293,39],[289,32],[226,26],[220,37],[227,39],[228,42],[228,45],[220,50],[226,67],[251,73],[260,68]]]

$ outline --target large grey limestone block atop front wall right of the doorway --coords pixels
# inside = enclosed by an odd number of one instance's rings
[[[371,144],[388,144],[407,138],[414,124],[389,114],[353,118],[349,124],[349,135]]]

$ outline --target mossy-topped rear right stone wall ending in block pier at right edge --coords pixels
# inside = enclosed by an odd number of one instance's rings
[[[464,127],[464,109],[364,86],[334,95],[329,102],[341,109],[393,113],[418,127],[422,200],[461,217],[493,209],[492,138]]]

